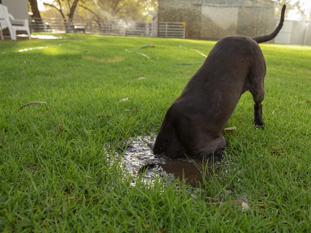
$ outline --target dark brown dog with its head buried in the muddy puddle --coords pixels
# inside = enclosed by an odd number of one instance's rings
[[[276,30],[249,38],[228,36],[211,49],[203,65],[166,112],[153,148],[156,154],[203,157],[225,147],[221,131],[241,95],[253,95],[255,126],[263,128],[263,80],[266,63],[258,43],[272,40],[284,22],[284,5]]]

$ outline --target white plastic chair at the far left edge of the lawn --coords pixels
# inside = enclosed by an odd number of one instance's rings
[[[0,24],[2,30],[9,30],[12,40],[16,40],[17,31],[26,31],[29,39],[31,39],[28,20],[14,19],[14,17],[8,12],[7,6],[4,6],[2,4],[0,4]]]

